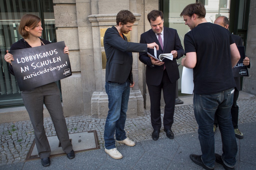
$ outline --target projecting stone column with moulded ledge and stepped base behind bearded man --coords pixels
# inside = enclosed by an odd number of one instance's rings
[[[102,5],[99,3],[99,6]],[[100,8],[99,8],[100,11]],[[134,14],[136,21],[131,31],[131,41],[137,41],[137,24],[140,19],[140,14]],[[91,98],[91,114],[92,117],[105,118],[108,114],[108,96],[105,92],[105,69],[102,68],[102,56],[104,47],[101,46],[100,35],[101,28],[109,28],[116,25],[116,14],[93,14],[88,16],[92,25],[92,41],[94,54],[94,73],[96,91],[93,92]],[[133,32],[135,36],[133,37]],[[138,53],[133,53],[133,78],[136,86],[131,90],[128,103],[127,117],[137,117],[144,115],[143,97],[138,86]],[[97,77],[97,78],[96,78]]]

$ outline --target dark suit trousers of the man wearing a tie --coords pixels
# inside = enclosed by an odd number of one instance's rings
[[[165,69],[161,83],[158,86],[147,84],[147,87],[150,96],[151,124],[153,129],[159,130],[162,126],[160,109],[162,89],[165,102],[163,118],[164,128],[172,128],[176,98],[176,81],[173,83],[170,81]]]

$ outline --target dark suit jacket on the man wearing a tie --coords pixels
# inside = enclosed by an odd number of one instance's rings
[[[140,43],[148,44],[148,43],[153,43],[153,42],[155,42],[159,45],[159,50],[157,51],[157,56],[159,56],[160,54],[164,54],[164,53],[170,53],[173,50],[176,50],[178,53],[176,59],[179,59],[184,54],[184,50],[181,45],[177,30],[175,30],[175,29],[164,27],[164,44],[163,44],[164,51],[161,48],[159,41],[152,29],[141,34]],[[148,53],[154,55],[154,49],[148,48]],[[153,86],[158,86],[162,81],[164,65],[152,66],[151,59],[150,59],[150,57],[148,57],[146,52],[140,52],[139,59],[142,63],[147,65],[146,66],[146,83],[153,85]],[[179,79],[179,69],[178,69],[176,59],[173,59],[173,60],[165,59],[164,60],[168,77],[172,83]]]

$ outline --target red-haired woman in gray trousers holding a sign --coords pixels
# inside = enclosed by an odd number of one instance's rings
[[[24,15],[19,24],[19,33],[23,38],[14,43],[10,47],[10,51],[50,44],[49,41],[40,38],[42,36],[42,30],[39,17],[30,14]],[[68,47],[65,47],[63,51],[69,54]],[[15,57],[18,58],[21,56]],[[10,63],[9,71],[14,75],[11,64],[14,58],[12,54],[8,53],[8,50],[4,59],[6,62]],[[49,157],[51,153],[44,128],[43,104],[45,104],[49,111],[63,151],[67,153],[68,159],[73,159],[75,154],[69,140],[67,124],[60,101],[60,91],[56,83],[52,82],[37,88],[24,90],[21,92],[21,95],[34,128],[36,146],[42,165],[50,165]]]

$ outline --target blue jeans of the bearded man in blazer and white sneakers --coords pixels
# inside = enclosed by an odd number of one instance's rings
[[[109,98],[109,112],[106,118],[104,140],[105,148],[115,148],[115,139],[124,140],[124,125],[126,120],[126,111],[130,95],[130,81],[124,83],[106,82],[106,93]]]

